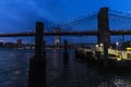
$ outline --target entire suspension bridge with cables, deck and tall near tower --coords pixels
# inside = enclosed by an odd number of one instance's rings
[[[104,35],[110,41],[110,36],[131,35],[131,14],[103,8],[90,15],[80,16],[58,25],[45,27],[44,36],[96,36],[98,44],[104,42]],[[45,25],[46,26],[46,25]],[[55,32],[60,28],[61,32]],[[126,29],[128,28],[128,29]],[[90,29],[90,30],[88,30]],[[35,32],[3,33],[0,37],[28,37]]]

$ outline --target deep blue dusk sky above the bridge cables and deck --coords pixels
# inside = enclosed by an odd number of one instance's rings
[[[98,11],[103,7],[131,13],[131,0],[0,0],[0,33],[34,30],[37,21],[59,23]],[[16,39],[0,38],[2,41]],[[34,41],[33,38],[23,40]],[[94,40],[88,38],[88,41]]]

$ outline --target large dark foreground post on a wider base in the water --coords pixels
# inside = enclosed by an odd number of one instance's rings
[[[46,58],[44,55],[44,23],[36,23],[35,55],[29,60],[28,87],[46,87]]]

